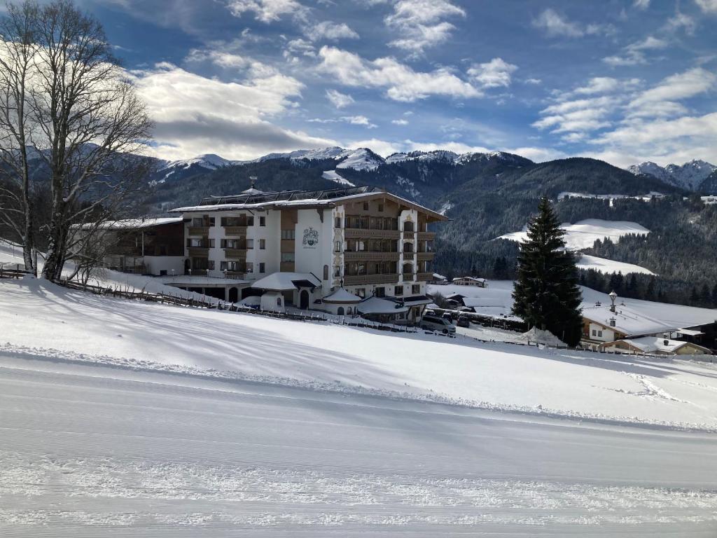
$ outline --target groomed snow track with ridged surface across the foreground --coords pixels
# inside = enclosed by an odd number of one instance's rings
[[[710,536],[712,435],[0,367],[8,537]],[[289,392],[286,392],[289,391]]]

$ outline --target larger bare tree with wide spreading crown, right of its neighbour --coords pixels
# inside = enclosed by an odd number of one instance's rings
[[[72,225],[116,218],[146,184],[146,161],[132,154],[146,147],[151,122],[92,16],[54,0],[37,8],[32,36],[28,136],[50,190],[42,275],[59,280],[65,261],[92,237],[73,239]]]

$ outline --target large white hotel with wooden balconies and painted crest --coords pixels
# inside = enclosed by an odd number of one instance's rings
[[[447,220],[375,187],[252,188],[172,212],[184,223],[182,272],[191,277],[181,287],[192,289],[189,280],[198,277],[221,282],[227,301],[270,293],[282,308],[344,315],[351,308],[351,315],[404,323],[418,321],[430,302],[435,232],[428,225]]]

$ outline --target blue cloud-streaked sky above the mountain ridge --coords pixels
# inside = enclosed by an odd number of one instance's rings
[[[83,0],[156,153],[717,162],[717,0]]]

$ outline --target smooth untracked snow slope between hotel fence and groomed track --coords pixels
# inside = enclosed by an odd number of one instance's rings
[[[717,428],[713,389],[680,381],[698,382],[698,366],[665,379],[662,362],[635,370],[675,397],[655,401],[633,394],[642,384],[625,374],[633,371],[629,359],[604,363],[587,353],[112,300],[37,281],[0,283],[0,324],[6,342],[0,349],[6,350],[87,354],[111,364],[141,360],[177,372],[227,372],[336,392]],[[586,368],[591,364],[601,367]]]

